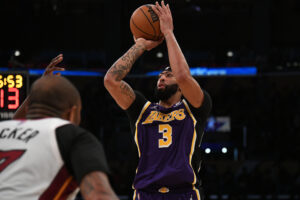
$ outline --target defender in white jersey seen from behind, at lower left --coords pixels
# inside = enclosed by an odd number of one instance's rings
[[[50,72],[52,73],[52,72]],[[66,78],[32,85],[26,119],[0,122],[0,199],[118,199],[102,145],[80,123],[81,99]]]

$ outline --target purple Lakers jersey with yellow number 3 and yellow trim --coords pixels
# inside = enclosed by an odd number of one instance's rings
[[[135,189],[192,188],[196,120],[185,100],[171,108],[147,102],[136,122],[139,163]],[[161,191],[164,193],[164,191]]]

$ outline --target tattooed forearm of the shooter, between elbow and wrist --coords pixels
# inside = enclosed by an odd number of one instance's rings
[[[130,71],[133,63],[140,56],[141,46],[132,46],[109,70],[108,73],[115,77],[115,80],[121,81]]]

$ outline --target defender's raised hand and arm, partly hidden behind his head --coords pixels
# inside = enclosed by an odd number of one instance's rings
[[[63,60],[63,55],[59,54],[55,58],[53,58],[50,62],[50,64],[46,67],[43,76],[46,75],[53,75],[54,71],[64,71],[65,69],[62,67],[57,67],[56,65],[60,63]],[[60,75],[60,73],[57,73],[56,75]],[[27,105],[29,102],[29,96],[26,97],[26,99],[23,101],[21,106],[18,108],[18,110],[15,112],[13,119],[25,119],[26,113],[27,113]]]

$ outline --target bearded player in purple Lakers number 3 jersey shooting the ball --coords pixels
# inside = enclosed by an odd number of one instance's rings
[[[211,99],[191,76],[173,33],[169,5],[156,3],[168,48],[170,67],[160,73],[156,95],[149,102],[123,80],[134,62],[162,41],[143,38],[107,71],[104,85],[126,111],[139,154],[134,200],[199,200],[200,143]]]

